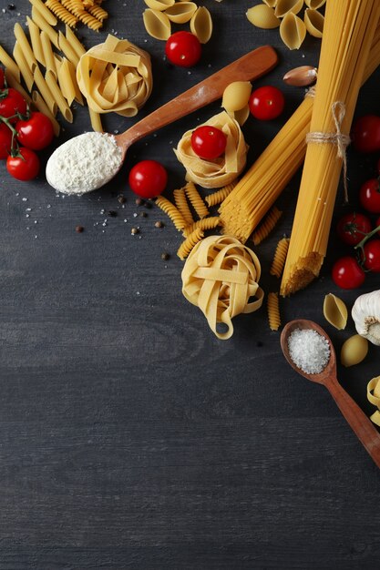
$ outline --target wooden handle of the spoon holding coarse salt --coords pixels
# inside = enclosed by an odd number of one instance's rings
[[[375,425],[339,382],[327,382],[325,386],[377,467],[380,467],[380,433],[377,432]]]

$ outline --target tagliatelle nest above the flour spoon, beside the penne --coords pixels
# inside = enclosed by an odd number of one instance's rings
[[[77,83],[94,111],[134,117],[152,90],[150,56],[128,40],[108,35],[80,58]]]

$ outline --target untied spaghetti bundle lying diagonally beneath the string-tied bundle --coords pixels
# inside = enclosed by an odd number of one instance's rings
[[[380,26],[376,28],[363,83],[380,65]],[[221,204],[224,232],[245,243],[253,229],[301,167],[310,131],[313,97],[306,97],[252,167]]]

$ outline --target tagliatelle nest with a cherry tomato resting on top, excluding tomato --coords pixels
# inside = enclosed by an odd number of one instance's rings
[[[191,148],[191,135],[188,130],[174,148],[176,157],[186,168],[186,178],[202,188],[221,188],[231,184],[239,176],[247,158],[248,146],[245,143],[239,123],[225,111],[211,117],[204,126],[217,127],[227,137],[224,154],[213,160],[198,157]]]

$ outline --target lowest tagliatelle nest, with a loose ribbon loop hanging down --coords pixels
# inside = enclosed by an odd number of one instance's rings
[[[226,340],[233,334],[233,317],[262,306],[260,276],[260,261],[252,249],[230,236],[210,236],[190,251],[181,273],[182,293],[200,308],[211,331]],[[220,324],[227,331],[218,330]]]

